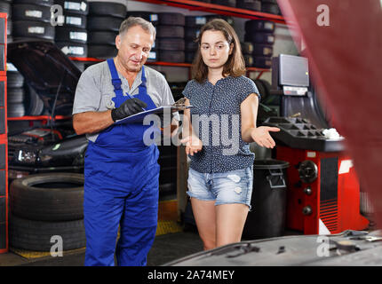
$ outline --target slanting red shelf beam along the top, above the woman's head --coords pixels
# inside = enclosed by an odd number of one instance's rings
[[[252,20],[271,20],[277,23],[285,24],[283,16],[270,14],[267,12],[256,12],[241,8],[228,7],[219,4],[203,3],[192,0],[135,0],[152,4],[166,4],[173,7],[179,7],[192,11],[212,12],[220,15],[238,17]]]

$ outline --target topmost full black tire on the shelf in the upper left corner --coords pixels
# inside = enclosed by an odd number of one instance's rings
[[[41,12],[41,17],[37,18],[27,15],[27,12]],[[40,16],[40,15],[39,15]],[[51,22],[51,8],[48,6],[35,5],[35,4],[13,4],[12,5],[12,19],[13,20],[37,20],[44,21],[45,23]]]

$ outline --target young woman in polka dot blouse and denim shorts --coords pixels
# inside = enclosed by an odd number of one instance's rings
[[[272,148],[269,131],[279,129],[256,127],[259,91],[243,76],[235,30],[225,20],[211,20],[201,28],[198,43],[194,79],[183,91],[186,104],[195,107],[185,111],[181,142],[191,159],[187,194],[204,249],[211,249],[241,241],[251,209],[249,143]]]

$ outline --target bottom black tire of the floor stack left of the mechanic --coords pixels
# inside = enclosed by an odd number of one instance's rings
[[[84,219],[67,222],[28,220],[10,214],[10,246],[32,251],[51,251],[52,236],[62,238],[63,250],[84,248],[86,237]]]

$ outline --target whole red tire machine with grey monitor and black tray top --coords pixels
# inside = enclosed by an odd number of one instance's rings
[[[369,221],[360,213],[360,184],[344,139],[328,138],[330,123],[310,84],[306,58],[273,59],[274,93],[281,95],[280,116],[265,125],[281,129],[272,136],[276,159],[287,170],[286,227],[305,234],[363,230]]]

